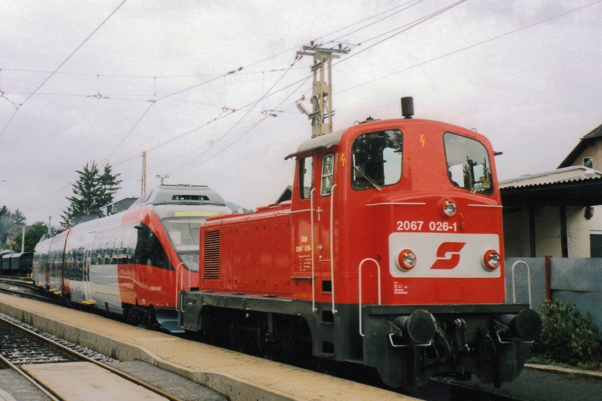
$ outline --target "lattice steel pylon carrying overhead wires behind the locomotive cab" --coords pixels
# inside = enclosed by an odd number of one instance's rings
[[[311,103],[312,111],[307,115],[311,120],[311,136],[324,135],[332,132],[332,72],[330,65],[333,58],[341,57],[340,54],[349,53],[348,49],[325,49],[317,46],[303,46],[298,55],[313,56],[314,64],[311,70],[314,73],[313,93]]]

